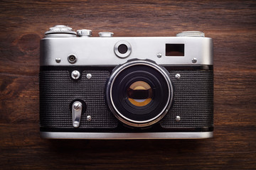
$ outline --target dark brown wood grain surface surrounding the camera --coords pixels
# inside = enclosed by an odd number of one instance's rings
[[[0,1],[0,169],[256,169],[255,1]],[[214,137],[43,140],[39,40],[48,28],[214,41]]]

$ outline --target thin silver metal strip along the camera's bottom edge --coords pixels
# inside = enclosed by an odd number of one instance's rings
[[[144,140],[144,139],[205,139],[213,132],[40,132],[45,139],[90,139],[90,140]]]

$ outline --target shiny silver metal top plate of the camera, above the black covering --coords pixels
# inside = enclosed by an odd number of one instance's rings
[[[126,58],[117,57],[113,50],[121,40],[132,46],[132,52]],[[185,55],[166,56],[166,43],[184,44]],[[149,59],[159,65],[213,65],[213,40],[203,37],[43,38],[40,50],[41,66],[117,66],[131,59]],[[162,54],[161,58],[156,57],[158,53]],[[79,58],[75,64],[66,60],[70,54]],[[56,63],[56,58],[61,62]],[[193,64],[192,58],[197,62]]]

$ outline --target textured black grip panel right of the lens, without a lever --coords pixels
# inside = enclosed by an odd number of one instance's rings
[[[180,79],[175,75],[180,74]],[[174,105],[161,121],[163,128],[213,127],[213,71],[171,71]],[[181,120],[176,121],[176,116]]]

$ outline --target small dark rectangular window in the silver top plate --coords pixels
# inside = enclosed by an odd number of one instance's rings
[[[184,56],[184,44],[166,44],[166,56]]]

